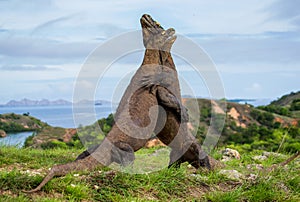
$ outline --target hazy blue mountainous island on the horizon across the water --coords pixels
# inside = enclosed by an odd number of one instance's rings
[[[110,104],[110,101],[106,100],[81,100],[76,104],[91,104],[94,103],[95,105],[104,105],[104,104]],[[72,105],[73,103],[67,100],[63,99],[57,99],[57,100],[48,100],[48,99],[42,99],[42,100],[31,100],[28,98],[24,98],[22,100],[10,100],[6,104],[0,104],[0,107],[36,107],[36,106],[66,106],[66,105]]]

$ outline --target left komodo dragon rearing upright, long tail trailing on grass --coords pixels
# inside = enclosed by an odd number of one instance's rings
[[[108,166],[112,162],[128,165],[134,160],[134,152],[142,148],[152,136],[156,127],[159,112],[158,100],[165,103],[165,107],[173,108],[178,117],[187,119],[187,112],[178,102],[176,96],[159,96],[168,92],[163,87],[142,87],[141,80],[151,72],[159,69],[161,64],[160,49],[173,44],[176,39],[174,29],[158,30],[159,24],[150,16],[141,18],[143,42],[146,47],[144,60],[127,87],[115,115],[115,124],[102,143],[91,155],[74,162],[55,165],[38,187],[27,193],[39,191],[54,176],[63,176],[72,171],[93,170],[99,166]],[[159,97],[159,99],[157,99]],[[168,100],[163,100],[168,99]],[[161,119],[161,118],[160,118]],[[162,120],[163,121],[163,120]]]

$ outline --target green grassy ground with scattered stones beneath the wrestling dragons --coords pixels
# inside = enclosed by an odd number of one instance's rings
[[[219,170],[196,171],[187,164],[180,169],[149,172],[150,165],[158,168],[167,162],[168,150],[156,148],[141,150],[133,165],[134,171],[148,174],[103,168],[54,178],[34,194],[22,192],[36,187],[52,165],[70,162],[80,152],[0,147],[0,201],[300,201],[299,160],[262,173],[257,165],[269,167],[288,156],[253,160],[259,151],[226,162],[223,169],[243,174],[239,180],[225,177]],[[214,156],[220,158],[221,154],[215,152]],[[139,169],[138,164],[146,170]]]

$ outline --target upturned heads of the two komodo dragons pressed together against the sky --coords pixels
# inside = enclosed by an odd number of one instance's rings
[[[143,29],[143,43],[145,48],[169,52],[176,40],[175,30],[173,28],[164,30],[164,28],[148,14],[144,14],[140,22]]]

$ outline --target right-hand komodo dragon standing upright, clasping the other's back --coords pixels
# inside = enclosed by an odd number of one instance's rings
[[[155,22],[150,16],[148,16],[148,18],[148,21],[152,21],[152,23]],[[158,32],[163,32],[163,28],[160,25],[156,26],[156,29],[158,30]],[[143,33],[147,34],[147,32]],[[142,81],[145,87],[152,86],[152,89],[155,89],[155,87],[159,88],[161,91],[161,93],[159,93],[159,96],[171,96],[171,92],[176,96],[176,99],[180,101],[181,93],[178,75],[172,59],[172,55],[170,53],[171,46],[173,45],[174,41],[169,42],[170,43],[166,44],[163,47],[164,49],[161,49],[159,51],[161,65],[163,68],[161,75],[145,75]],[[172,74],[170,74],[170,72],[172,72]],[[165,86],[168,91],[166,91],[166,88],[162,88],[161,86]],[[206,167],[208,169],[212,169],[219,165],[219,162],[208,156],[201,149],[200,145],[197,143],[197,140],[188,130],[187,124],[182,123],[182,117],[178,116],[177,111],[175,111],[174,108],[168,107],[165,101],[169,100],[170,99],[166,98],[158,99],[159,104],[161,106],[164,106],[165,108],[164,110],[167,113],[167,121],[164,126],[161,126],[161,123],[164,123],[164,121],[161,120],[163,116],[159,116],[157,120],[158,128],[163,128],[157,134],[157,137],[164,144],[172,148],[169,167],[171,167],[172,165],[178,167],[181,163],[186,161],[195,168]]]

